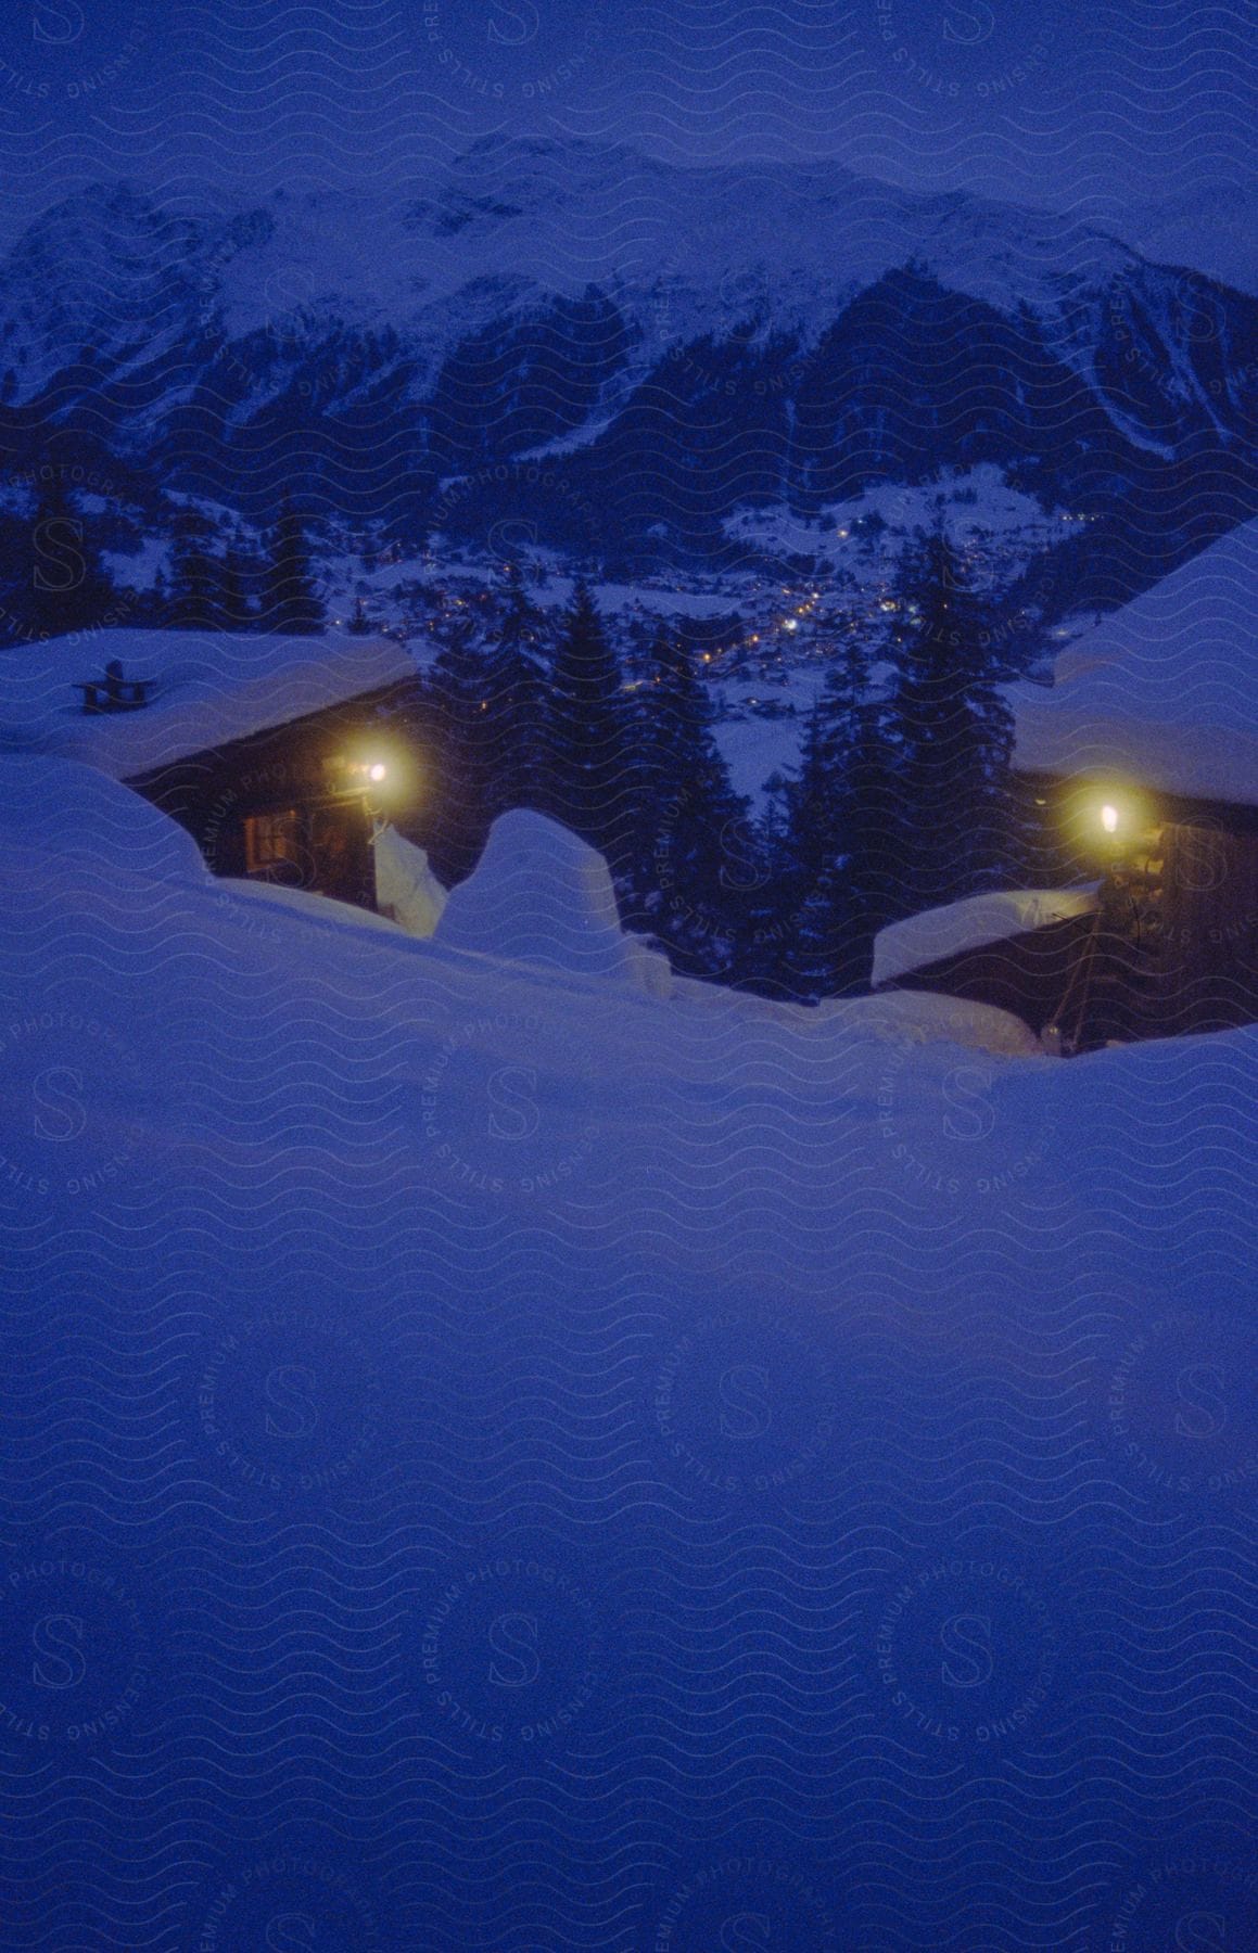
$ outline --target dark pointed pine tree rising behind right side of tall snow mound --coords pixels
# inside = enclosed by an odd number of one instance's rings
[[[549,812],[602,850],[613,873],[629,865],[633,785],[619,662],[590,590],[580,582],[551,674],[543,793]]]

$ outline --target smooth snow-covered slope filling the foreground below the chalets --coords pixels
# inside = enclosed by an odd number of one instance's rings
[[[0,758],[25,1939],[1242,1945],[1258,1031],[662,1002],[125,805]]]

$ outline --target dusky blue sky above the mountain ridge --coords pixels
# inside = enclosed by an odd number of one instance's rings
[[[6,232],[98,176],[414,187],[488,129],[1084,207],[1252,180],[1229,0],[6,0]]]

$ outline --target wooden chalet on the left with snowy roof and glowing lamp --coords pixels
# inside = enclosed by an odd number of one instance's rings
[[[109,631],[10,658],[10,748],[131,785],[188,828],[215,875],[379,906],[373,834],[422,791],[391,734],[416,684],[398,644]]]

